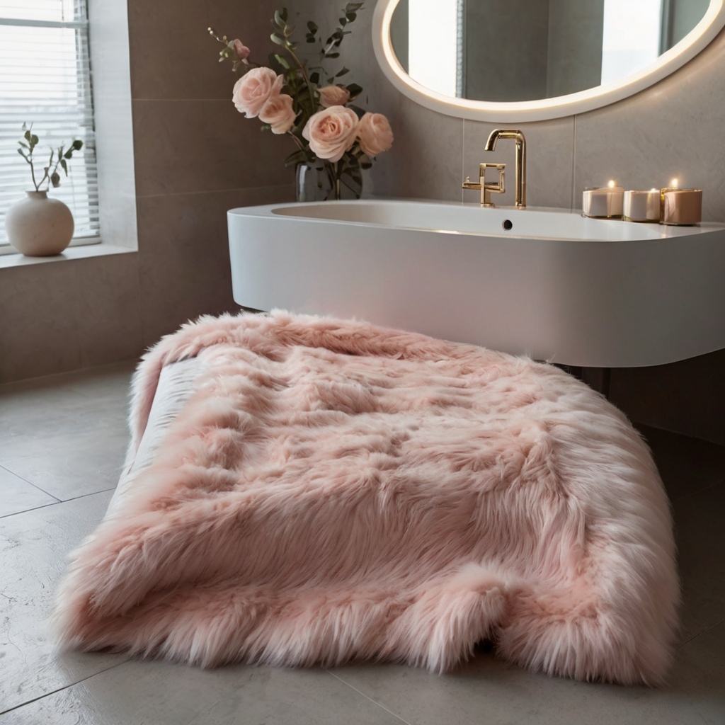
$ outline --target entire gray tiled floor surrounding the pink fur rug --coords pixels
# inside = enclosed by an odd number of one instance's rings
[[[652,428],[671,496],[683,632],[664,689],[551,679],[479,653],[403,666],[217,671],[57,654],[64,558],[99,521],[126,444],[130,365],[0,386],[0,724],[725,724],[725,448]]]

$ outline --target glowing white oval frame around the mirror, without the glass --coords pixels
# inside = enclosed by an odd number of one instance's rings
[[[703,19],[657,62],[615,83],[588,88],[568,96],[538,101],[471,101],[444,96],[410,78],[398,62],[390,39],[390,23],[399,0],[378,0],[373,13],[373,49],[386,77],[402,94],[421,106],[445,115],[475,121],[523,123],[561,118],[621,101],[666,78],[705,49],[725,27],[725,0],[711,0]]]

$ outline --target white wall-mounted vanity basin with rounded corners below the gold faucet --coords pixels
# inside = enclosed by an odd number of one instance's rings
[[[357,317],[587,367],[725,347],[724,225],[395,200],[244,207],[228,225],[244,307]]]

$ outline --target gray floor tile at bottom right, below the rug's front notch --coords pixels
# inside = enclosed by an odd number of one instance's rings
[[[677,653],[666,687],[548,677],[479,654],[452,674],[361,665],[333,673],[411,725],[721,725],[725,624]]]

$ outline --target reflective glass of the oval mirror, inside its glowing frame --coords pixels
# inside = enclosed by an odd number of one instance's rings
[[[702,20],[709,0],[400,0],[397,59],[445,96],[535,101],[621,80]]]

